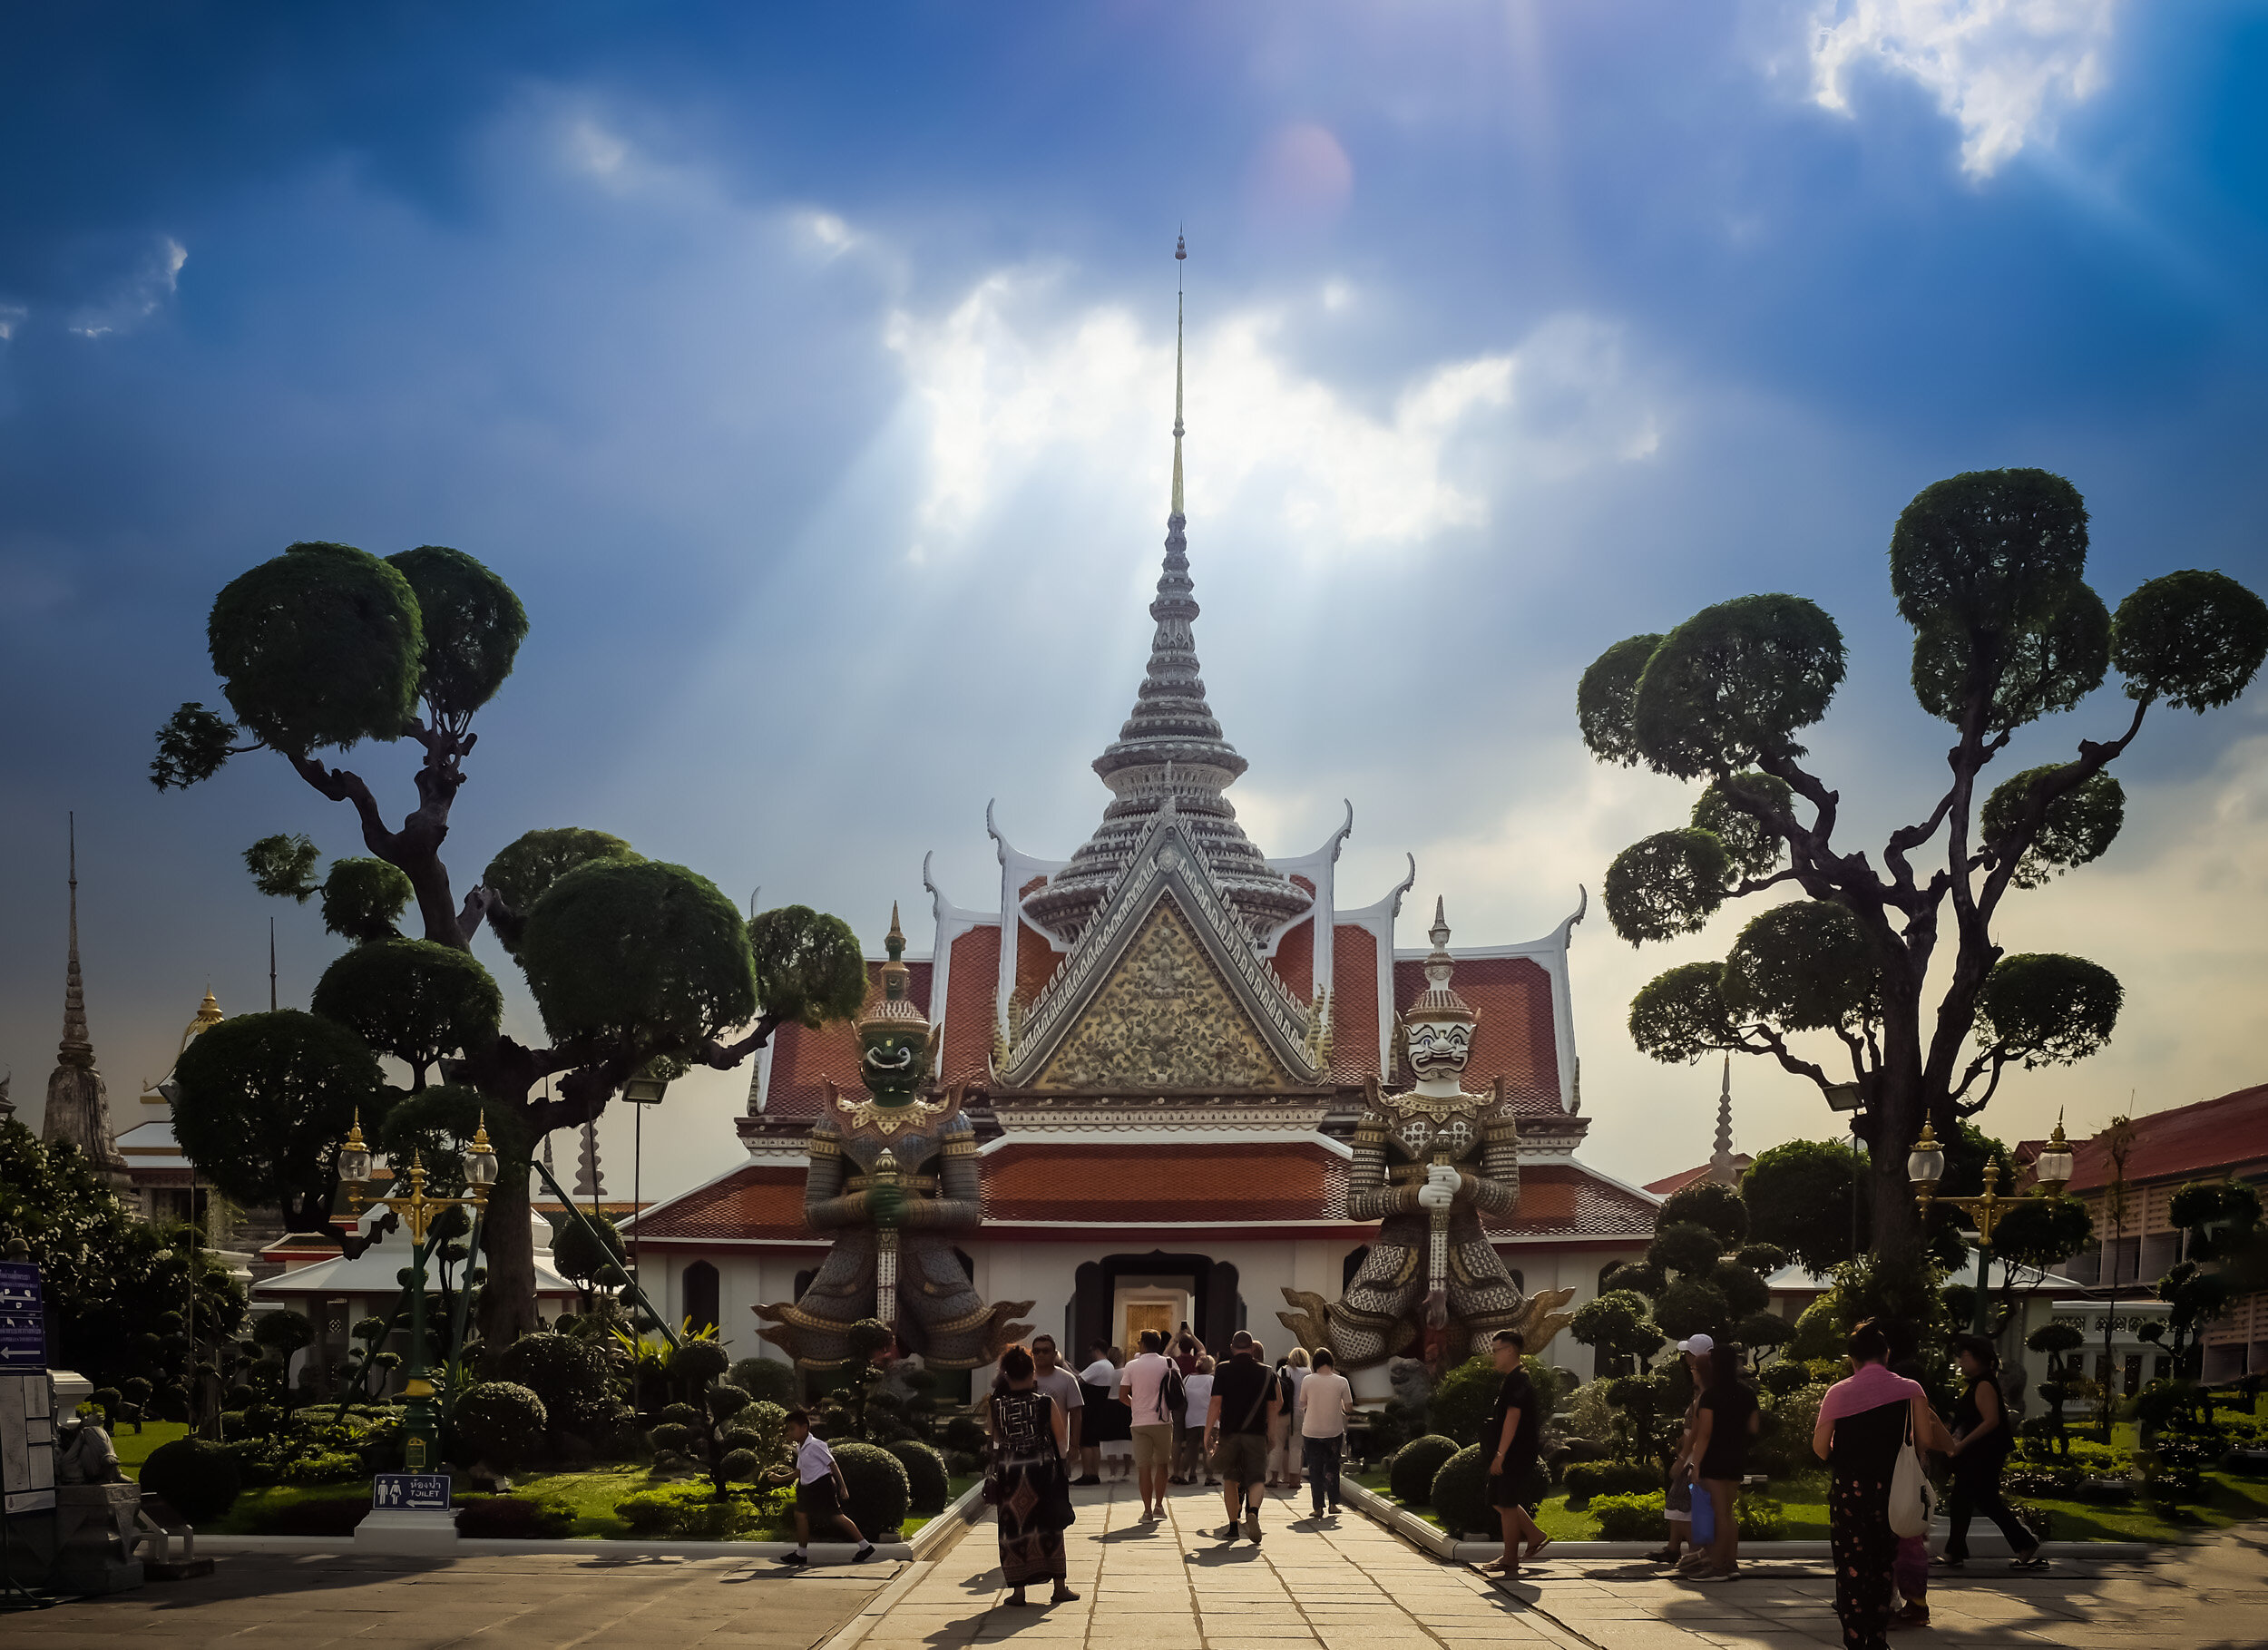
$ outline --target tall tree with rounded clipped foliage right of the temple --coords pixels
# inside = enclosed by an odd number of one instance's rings
[[[1683,827],[1615,859],[1606,909],[1617,934],[1676,938],[1728,900],[1794,895],[1751,920],[1721,963],[1647,984],[1631,1004],[1633,1040],[1660,1061],[1733,1049],[1821,1090],[1855,1081],[1876,1244],[1905,1262],[1923,1256],[1905,1188],[1921,1124],[1953,1136],[2009,1065],[2087,1058],[2118,1020],[2109,970],[2003,954],[1994,927],[2007,891],[2109,850],[2125,798],[2105,768],[2152,705],[2229,705],[2268,655],[2268,603],[2223,573],[2152,578],[2112,612],[2084,569],[2087,505],[2041,469],[1953,476],[1898,517],[1889,585],[1914,628],[1914,698],[1955,743],[1941,796],[1878,857],[1837,841],[1842,796],[1803,764],[1799,739],[1844,678],[1842,632],[1814,603],[1706,607],[1665,635],[1617,641],[1576,689],[1592,755],[1706,786]],[[2116,737],[2080,739],[2068,762],[1982,789],[2021,728],[2073,709],[2114,669],[2134,705]],[[1916,864],[1932,843],[1939,864]],[[1935,1004],[1923,1000],[1932,966]],[[1848,1072],[1805,1058],[1792,1043],[1801,1034],[1839,1040]]]

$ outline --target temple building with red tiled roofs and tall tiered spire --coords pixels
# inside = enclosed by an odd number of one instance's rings
[[[1313,850],[1270,857],[1227,798],[1247,764],[1198,669],[1179,401],[1177,354],[1150,662],[1093,762],[1102,820],[1048,859],[987,807],[998,888],[959,904],[923,861],[930,954],[909,956],[905,979],[934,1024],[932,1086],[962,1088],[980,1142],[984,1224],[962,1235],[959,1262],[984,1301],[1032,1301],[1027,1317],[1077,1360],[1184,1321],[1213,1349],[1250,1328],[1281,1353],[1286,1290],[1340,1296],[1374,1231],[1347,1215],[1365,1086],[1411,1083],[1397,1029],[1427,990],[1429,947],[1397,945],[1415,861],[1390,888],[1343,893],[1352,805]],[[889,893],[873,904],[880,916]],[[1542,936],[1452,954],[1476,1011],[1465,1083],[1520,1122],[1520,1199],[1488,1217],[1488,1240],[1520,1287],[1572,1287],[1579,1305],[1606,1267],[1644,1251],[1660,1199],[1576,1156],[1590,1120],[1567,979],[1583,900],[1572,904]],[[880,966],[869,961],[875,981]],[[830,1242],[805,1224],[807,1138],[830,1081],[860,1081],[855,1027],[780,1027],[739,1117],[746,1156],[635,1222],[662,1312],[753,1349],[751,1310],[803,1294]],[[1572,1337],[1547,1358],[1590,1376]]]

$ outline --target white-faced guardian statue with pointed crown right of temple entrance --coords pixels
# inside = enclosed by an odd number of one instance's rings
[[[1465,1058],[1479,1015],[1449,990],[1449,925],[1433,907],[1427,988],[1402,1015],[1415,1086],[1381,1092],[1370,1083],[1354,1131],[1347,1215],[1379,1222],[1361,1271],[1338,1301],[1284,1290],[1293,1312],[1277,1317],[1306,1346],[1329,1346],[1340,1369],[1370,1369],[1413,1339],[1438,1373],[1488,1351],[1499,1328],[1517,1328],[1538,1353],[1569,1319],[1572,1290],[1520,1292],[1481,1228],[1483,1215],[1520,1204],[1520,1129],[1497,1095],[1463,1092]]]

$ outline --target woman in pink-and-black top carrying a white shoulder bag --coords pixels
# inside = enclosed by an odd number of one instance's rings
[[[1835,1614],[1848,1650],[1887,1650],[1892,1566],[1889,1480],[1912,1435],[1923,1448],[1953,1448],[1919,1383],[1889,1371],[1889,1337],[1873,1319],[1848,1339],[1851,1376],[1828,1387],[1812,1428],[1812,1453],[1828,1464],[1828,1543],[1835,1553]]]

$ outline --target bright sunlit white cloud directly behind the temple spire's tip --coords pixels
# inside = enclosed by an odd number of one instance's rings
[[[928,444],[916,555],[968,535],[1043,465],[1163,462],[1170,331],[1118,306],[1059,315],[1057,286],[1000,272],[943,315],[891,315]],[[1588,315],[1420,369],[1383,410],[1297,367],[1286,326],[1284,311],[1247,308],[1191,331],[1191,508],[1275,517],[1311,555],[1474,528],[1506,485],[1647,458],[1660,440],[1619,331]]]

